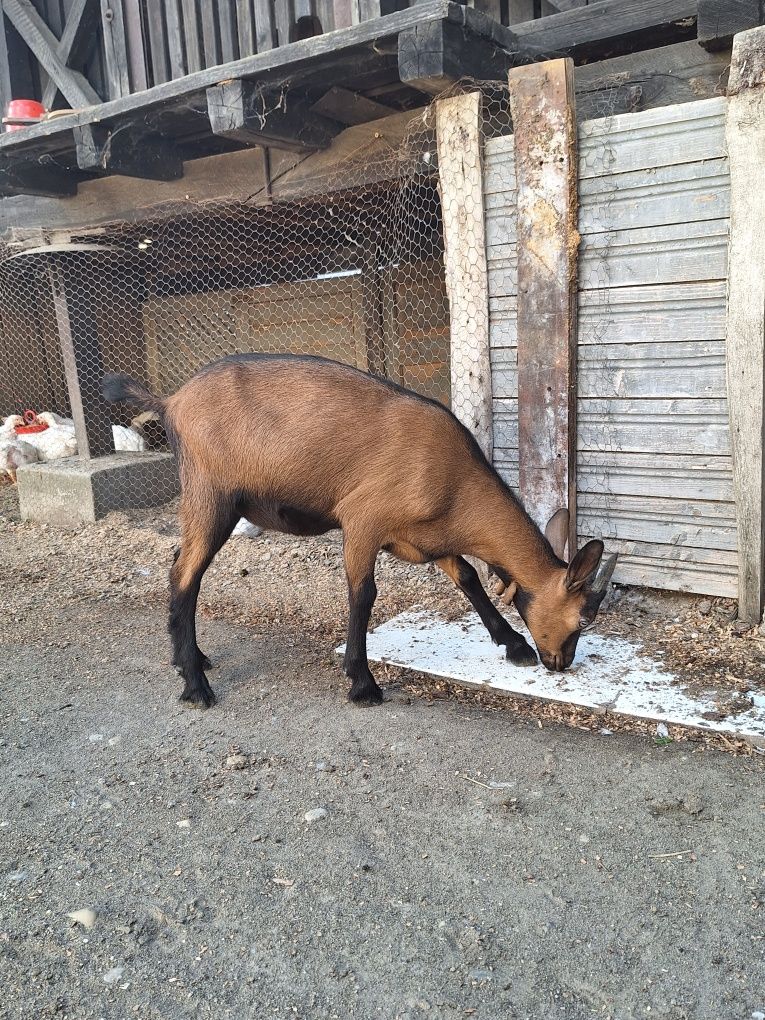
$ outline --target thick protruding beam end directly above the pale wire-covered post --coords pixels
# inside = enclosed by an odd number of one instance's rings
[[[425,21],[399,36],[401,82],[430,96],[462,78],[502,81],[514,62],[494,40],[453,21]]]

